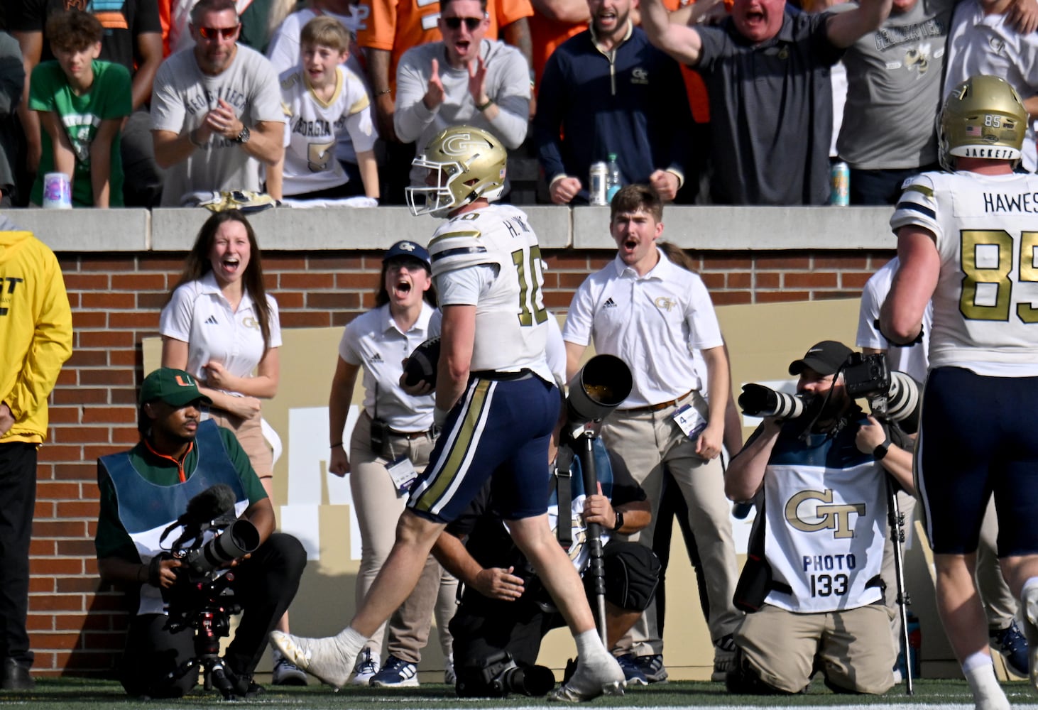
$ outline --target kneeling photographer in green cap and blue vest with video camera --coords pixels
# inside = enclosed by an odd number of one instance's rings
[[[140,388],[140,443],[98,460],[98,569],[105,582],[127,591],[131,619],[119,680],[132,695],[177,698],[198,682],[198,665],[185,662],[198,656],[190,624],[201,616],[207,600],[191,592],[195,585],[190,582],[197,576],[189,581],[189,567],[169,554],[171,546],[181,547],[176,543],[194,540],[193,531],[180,535],[182,524],[188,530],[204,529],[226,511],[225,526],[235,517],[240,519],[236,526],[245,520],[254,525],[254,530],[242,525],[249,532],[242,537],[251,537],[249,547],[255,544],[256,549],[239,558],[217,561],[215,567],[233,568],[226,578],[215,569],[206,577],[215,581],[214,586],[228,586],[233,602],[243,609],[223,659],[229,681],[225,694],[251,697],[263,690],[252,681],[252,673],[268,634],[296,596],[306,565],[299,541],[273,531],[274,509],[235,434],[212,420],[200,421],[200,406],[208,403],[188,373],[157,370]],[[223,535],[231,534],[227,527]],[[204,551],[225,553],[231,545],[214,547],[223,550],[207,545]],[[217,606],[229,606],[231,600],[224,599],[221,596]],[[199,608],[194,608],[196,604]],[[176,612],[167,616],[169,606]],[[167,628],[170,621],[185,625],[174,631]],[[215,619],[213,626],[223,621]]]

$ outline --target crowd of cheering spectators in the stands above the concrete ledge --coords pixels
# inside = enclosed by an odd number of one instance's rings
[[[894,203],[955,83],[1003,76],[1038,117],[1034,0],[799,4],[11,0],[0,204],[42,204],[50,172],[76,207],[403,204],[462,124],[539,166],[513,202],[588,203],[611,156],[668,202],[825,204],[843,162],[850,203]]]

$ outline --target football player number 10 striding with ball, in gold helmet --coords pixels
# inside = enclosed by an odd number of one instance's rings
[[[429,244],[443,311],[434,414],[442,433],[411,488],[397,543],[350,626],[327,638],[271,634],[285,657],[336,687],[349,679],[367,637],[414,588],[446,523],[490,480],[498,513],[576,640],[577,670],[555,700],[623,692],[624,673],[548,526],[548,442],[559,397],[544,356],[548,313],[537,236],[521,211],[490,203],[503,189],[507,157],[490,133],[456,126],[414,159],[429,170],[429,187],[408,188],[411,211],[449,218]]]

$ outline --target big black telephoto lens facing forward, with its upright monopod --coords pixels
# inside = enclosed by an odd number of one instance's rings
[[[598,471],[595,466],[594,429],[586,425],[601,421],[631,393],[633,381],[627,364],[613,355],[596,355],[573,376],[566,400],[566,426],[571,429],[574,453],[580,459],[585,495],[598,490]],[[559,511],[562,514],[562,511]],[[562,515],[559,515],[562,519]],[[595,622],[602,643],[607,644],[605,627],[605,568],[602,563],[602,526],[588,523],[588,552],[591,558],[584,573],[592,581],[595,593]]]

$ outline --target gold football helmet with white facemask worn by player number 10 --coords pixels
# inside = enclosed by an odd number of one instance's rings
[[[444,129],[412,161],[429,170],[429,178],[427,187],[406,190],[411,214],[443,217],[479,197],[497,199],[504,189],[508,157],[501,142],[483,129]]]

